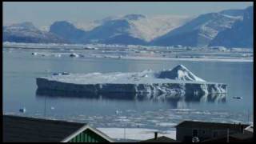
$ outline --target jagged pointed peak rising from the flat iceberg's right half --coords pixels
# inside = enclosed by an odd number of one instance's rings
[[[188,70],[183,65],[175,66],[172,70],[164,70],[158,73],[158,78],[169,78],[183,81],[196,81],[196,82],[206,82],[202,78],[198,78],[190,70]]]

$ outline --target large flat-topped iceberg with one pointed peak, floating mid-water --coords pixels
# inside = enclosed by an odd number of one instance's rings
[[[53,74],[37,78],[38,90],[61,90],[84,94],[130,93],[157,97],[166,94],[175,96],[198,96],[224,94],[226,84],[206,82],[185,66],[172,70],[144,70],[133,73]],[[122,95],[122,94],[120,94]]]

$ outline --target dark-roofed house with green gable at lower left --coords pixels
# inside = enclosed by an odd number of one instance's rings
[[[84,123],[3,115],[3,142],[114,142]]]

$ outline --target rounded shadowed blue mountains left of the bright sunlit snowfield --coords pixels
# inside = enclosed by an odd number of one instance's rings
[[[97,22],[91,30],[78,29],[70,22],[54,22],[50,32],[70,39],[75,43],[116,43],[116,44],[144,44],[142,39],[130,36],[130,23],[124,18],[108,19]]]

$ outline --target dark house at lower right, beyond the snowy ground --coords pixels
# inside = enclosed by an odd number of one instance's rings
[[[227,134],[243,133],[243,130],[249,125],[217,123],[217,122],[196,122],[184,121],[176,127],[176,140],[181,142],[192,142],[192,138],[197,137],[200,142],[217,138]]]

